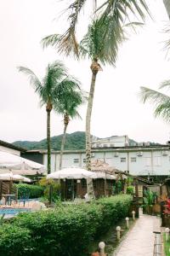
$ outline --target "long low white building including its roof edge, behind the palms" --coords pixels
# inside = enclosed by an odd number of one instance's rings
[[[47,166],[47,150],[37,150],[32,154],[42,155],[42,164]],[[28,151],[31,155],[31,151]],[[26,157],[26,154],[25,154]],[[117,148],[93,148],[92,158],[104,160],[116,169],[138,176],[169,176],[170,148],[169,145],[126,146]],[[84,167],[85,150],[66,150],[63,154],[62,168],[68,166]],[[59,151],[52,151],[51,171],[59,170]]]

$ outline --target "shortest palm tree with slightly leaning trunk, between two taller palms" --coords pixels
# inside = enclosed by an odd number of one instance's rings
[[[67,126],[69,125],[71,119],[81,118],[77,108],[79,108],[80,105],[82,105],[82,103],[85,101],[85,96],[83,96],[82,90],[80,90],[77,84],[73,84],[71,90],[63,90],[59,96],[59,100],[54,105],[54,110],[57,113],[62,114],[64,117],[64,132],[59,155],[59,169],[61,169],[62,166],[62,156],[65,148]]]

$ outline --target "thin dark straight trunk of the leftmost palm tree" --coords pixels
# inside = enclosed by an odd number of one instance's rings
[[[47,109],[48,174],[51,173],[50,112],[51,110]]]

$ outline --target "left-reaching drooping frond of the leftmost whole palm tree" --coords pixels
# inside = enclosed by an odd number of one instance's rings
[[[36,74],[27,67],[17,67],[17,69],[19,70],[19,72],[26,74],[26,76],[30,80],[30,84],[34,87],[35,91],[40,93],[40,91],[42,90],[42,83],[37,78]]]

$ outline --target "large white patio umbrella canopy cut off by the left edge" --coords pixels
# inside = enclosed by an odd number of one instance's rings
[[[31,160],[27,160],[15,154],[0,151],[0,169],[22,170],[16,174],[42,174],[45,167]],[[27,171],[27,172],[26,172]],[[29,171],[29,172],[28,172]]]

